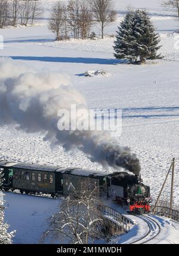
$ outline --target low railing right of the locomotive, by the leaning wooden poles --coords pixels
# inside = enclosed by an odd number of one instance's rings
[[[179,211],[171,209],[165,206],[151,206],[151,211],[153,215],[165,216],[171,218],[174,221],[179,222]]]

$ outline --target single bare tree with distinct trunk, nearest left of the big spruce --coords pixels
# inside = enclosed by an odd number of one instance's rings
[[[104,38],[105,26],[116,19],[116,11],[113,10],[113,0],[90,0],[90,4],[94,19],[101,25],[101,37]]]

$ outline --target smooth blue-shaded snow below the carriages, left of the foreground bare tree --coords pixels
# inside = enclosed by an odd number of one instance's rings
[[[47,220],[60,206],[60,200],[39,196],[5,193],[5,221],[16,230],[13,243],[39,243],[47,230]]]

